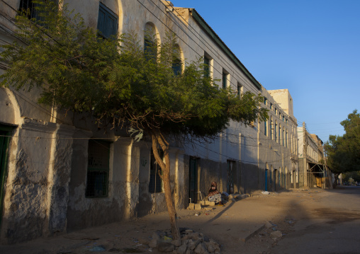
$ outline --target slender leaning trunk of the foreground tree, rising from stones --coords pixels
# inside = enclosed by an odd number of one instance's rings
[[[162,161],[162,158],[159,155],[159,151],[157,150],[157,144],[161,146],[162,151],[164,152],[165,162]],[[176,223],[177,215],[170,185],[169,143],[164,139],[161,134],[152,134],[152,151],[154,153],[154,157],[157,163],[162,168],[162,175],[160,175],[160,177],[162,178],[162,182],[164,184],[165,200],[167,201],[167,212],[169,212],[172,237],[174,240],[178,240],[181,238],[181,236],[179,227]]]

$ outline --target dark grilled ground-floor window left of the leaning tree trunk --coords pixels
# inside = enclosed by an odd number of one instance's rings
[[[86,197],[108,196],[110,143],[89,141]]]

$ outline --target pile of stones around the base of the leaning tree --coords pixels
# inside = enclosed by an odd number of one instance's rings
[[[220,245],[213,239],[195,232],[191,229],[183,229],[181,239],[169,242],[167,232],[152,233],[152,239],[149,243],[149,251],[157,248],[160,253],[177,253],[177,254],[220,254]],[[156,243],[156,244],[155,244]]]

